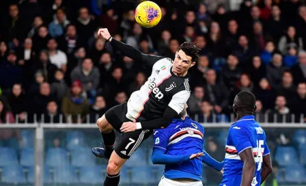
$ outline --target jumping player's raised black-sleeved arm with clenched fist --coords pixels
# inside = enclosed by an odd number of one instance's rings
[[[117,48],[127,57],[134,59],[136,62],[142,62],[143,66],[153,66],[155,62],[163,58],[161,56],[147,55],[145,53],[141,53],[141,51],[135,49],[134,47],[115,40],[111,37],[111,34],[109,34],[108,29],[99,29],[98,36],[102,36],[102,38],[104,38],[105,40],[109,40],[113,47]]]

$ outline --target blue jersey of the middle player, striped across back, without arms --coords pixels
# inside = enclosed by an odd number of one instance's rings
[[[154,130],[154,146],[166,155],[191,155],[204,150],[204,127],[186,117],[176,119],[165,129]],[[164,176],[173,178],[193,178],[201,181],[201,159],[165,165]]]

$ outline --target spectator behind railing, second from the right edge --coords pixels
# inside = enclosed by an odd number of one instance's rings
[[[269,113],[269,122],[291,122],[290,109],[286,105],[286,98],[284,96],[277,96],[275,99],[275,109]]]

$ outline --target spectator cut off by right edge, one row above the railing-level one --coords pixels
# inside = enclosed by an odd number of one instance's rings
[[[306,13],[306,12],[305,12]],[[306,82],[306,52],[298,53],[298,64],[291,68],[294,84]]]

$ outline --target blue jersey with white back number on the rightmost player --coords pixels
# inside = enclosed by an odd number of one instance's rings
[[[251,186],[259,186],[262,172],[262,157],[270,154],[266,144],[266,134],[255,122],[254,116],[245,116],[232,124],[225,147],[223,180],[219,186],[237,186],[241,183],[243,161],[240,152],[251,148],[256,163]]]

